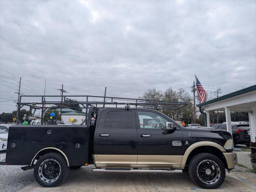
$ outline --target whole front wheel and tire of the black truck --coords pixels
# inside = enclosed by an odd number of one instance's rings
[[[189,162],[188,173],[195,184],[215,189],[225,180],[225,166],[219,158],[209,153],[199,153]]]

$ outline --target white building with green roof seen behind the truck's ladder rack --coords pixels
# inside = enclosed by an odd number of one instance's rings
[[[57,109],[60,112],[60,109]],[[73,118],[74,121],[71,122],[70,119]],[[62,108],[61,121],[64,124],[81,124],[86,118],[85,112],[76,111],[73,109]]]

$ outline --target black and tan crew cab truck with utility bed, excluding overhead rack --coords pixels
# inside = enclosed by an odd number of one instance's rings
[[[188,169],[199,186],[217,188],[225,179],[225,169],[233,169],[237,161],[229,132],[183,127],[156,110],[90,108],[87,122],[11,126],[6,159],[0,164],[33,168],[44,187],[59,185],[70,168],[94,164],[94,172]]]

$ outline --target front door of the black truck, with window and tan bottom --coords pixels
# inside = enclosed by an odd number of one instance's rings
[[[138,158],[137,164],[168,165],[179,167],[182,162],[184,142],[181,128],[164,130],[166,119],[161,113],[137,110]]]

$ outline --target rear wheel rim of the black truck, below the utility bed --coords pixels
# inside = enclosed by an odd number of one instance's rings
[[[40,164],[38,173],[44,182],[54,182],[59,178],[61,166],[55,159],[47,159]]]

